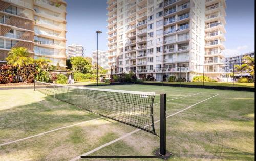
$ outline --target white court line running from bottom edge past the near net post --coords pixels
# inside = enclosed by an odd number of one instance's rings
[[[197,105],[197,104],[199,104],[199,103],[202,103],[202,102],[204,102],[204,101],[206,101],[206,100],[208,100],[208,99],[214,98],[214,97],[216,97],[216,96],[218,96],[218,95],[219,95],[219,94],[214,95],[214,96],[212,96],[212,97],[209,97],[209,98],[207,98],[207,99],[205,99],[205,100],[202,100],[202,101],[200,101],[200,102],[197,102],[196,104],[190,105],[190,106],[188,106],[187,108],[185,108],[185,109],[183,109],[183,110],[180,110],[180,111],[178,111],[178,112],[176,112],[176,113],[174,113],[174,114],[168,115],[166,118],[169,118],[169,117],[171,117],[171,116],[174,116],[174,115],[176,115],[176,114],[179,114],[179,113],[181,113],[181,112],[183,112],[183,111],[185,111],[185,110],[187,110],[187,109],[189,109],[189,108],[192,108],[193,106],[195,106],[195,105]],[[154,123],[158,123],[159,121],[160,121],[160,120],[157,120],[157,121],[155,121]],[[119,141],[119,140],[125,138],[125,137],[131,136],[133,133],[138,132],[138,131],[140,131],[140,129],[136,129],[136,130],[134,130],[134,131],[132,131],[132,132],[130,132],[130,133],[126,133],[125,135],[123,135],[123,136],[121,136],[121,137],[119,137],[119,138],[117,138],[117,139],[115,139],[115,140],[113,140],[113,141],[111,141],[111,142],[109,142],[109,143],[103,144],[103,145],[101,145],[101,146],[99,146],[99,147],[97,147],[97,148],[95,148],[95,149],[93,149],[93,150],[91,150],[91,151],[88,151],[87,153],[84,153],[84,154],[82,154],[82,155],[80,155],[80,156],[77,156],[77,157],[71,159],[70,161],[78,160],[78,159],[81,158],[81,156],[90,155],[90,154],[92,154],[92,153],[94,153],[94,152],[96,152],[96,151],[98,151],[98,150],[100,150],[100,149],[102,149],[102,148],[104,148],[104,147],[106,147],[106,146],[109,146],[109,145],[111,145],[111,144],[113,144],[113,143],[115,143],[115,142],[117,142],[117,141]]]

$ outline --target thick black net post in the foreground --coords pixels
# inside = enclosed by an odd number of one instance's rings
[[[160,94],[160,155],[166,154],[166,93]]]

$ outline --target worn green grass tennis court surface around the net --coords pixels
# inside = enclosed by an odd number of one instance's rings
[[[170,160],[254,160],[253,92],[147,85],[99,88],[156,92],[155,120],[159,94],[167,94],[166,113],[172,115],[166,120]],[[0,160],[74,160],[90,151],[89,155],[153,155],[159,148],[159,137],[139,130],[95,150],[136,128],[32,89],[0,90],[0,100]],[[159,123],[155,128],[159,133]],[[34,135],[38,136],[26,139]]]

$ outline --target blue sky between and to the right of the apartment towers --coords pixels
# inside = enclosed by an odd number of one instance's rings
[[[106,0],[66,0],[67,2],[67,46],[82,45],[86,56],[98,49],[107,51]],[[243,3],[242,3],[243,2]],[[254,0],[226,0],[226,50],[225,56],[254,51]]]

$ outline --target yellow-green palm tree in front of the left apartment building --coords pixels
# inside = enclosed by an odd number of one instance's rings
[[[7,64],[17,67],[18,70],[21,67],[33,64],[33,58],[29,57],[28,50],[25,47],[12,48],[6,61]]]

